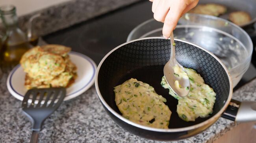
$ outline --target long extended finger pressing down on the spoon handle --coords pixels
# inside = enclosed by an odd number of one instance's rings
[[[182,12],[186,9],[187,4],[181,1],[176,1],[175,4],[171,5],[169,12],[167,13],[164,24],[163,24],[163,37],[169,38],[171,32],[176,27],[178,20]]]

